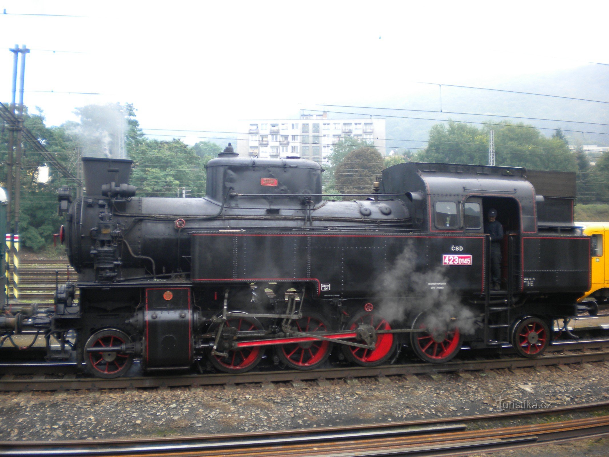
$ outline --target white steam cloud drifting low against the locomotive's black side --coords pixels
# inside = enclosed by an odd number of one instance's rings
[[[459,327],[462,334],[474,332],[474,313],[463,305],[461,297],[449,286],[445,266],[431,271],[417,271],[420,252],[414,243],[404,247],[389,271],[381,275],[377,296],[384,297],[379,313],[388,321],[412,322],[425,313],[427,328],[449,330]]]

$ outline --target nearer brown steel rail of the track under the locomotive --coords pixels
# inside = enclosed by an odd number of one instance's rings
[[[515,369],[609,360],[609,350],[580,354],[543,355],[536,359],[499,358],[492,360],[457,360],[437,365],[412,363],[379,367],[333,367],[311,371],[281,370],[245,373],[241,375],[189,374],[133,378],[69,378],[69,379],[7,379],[0,378],[0,391],[66,391],[82,389],[135,389],[197,387],[222,384],[271,383],[336,378],[383,377],[395,375],[438,374],[445,372]],[[4,364],[4,368],[7,364]],[[2,366],[0,366],[2,368]]]

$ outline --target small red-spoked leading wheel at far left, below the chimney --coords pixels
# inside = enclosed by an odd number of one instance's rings
[[[121,352],[88,352],[87,349],[102,349],[127,344],[130,342],[126,333],[120,330],[107,329],[97,331],[85,344],[85,365],[89,372],[100,378],[117,378],[124,375],[133,363],[133,355]]]

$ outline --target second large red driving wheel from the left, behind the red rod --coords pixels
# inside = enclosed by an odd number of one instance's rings
[[[317,313],[303,313],[292,328],[301,333],[328,331],[329,325]],[[277,349],[277,355],[284,364],[297,370],[312,370],[326,361],[333,344],[329,341],[305,341],[294,344],[283,344]]]

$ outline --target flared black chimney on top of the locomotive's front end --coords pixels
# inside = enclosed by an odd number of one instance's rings
[[[113,187],[127,185],[133,160],[124,158],[83,157],[82,171],[87,196],[102,195],[102,186],[114,183]]]

